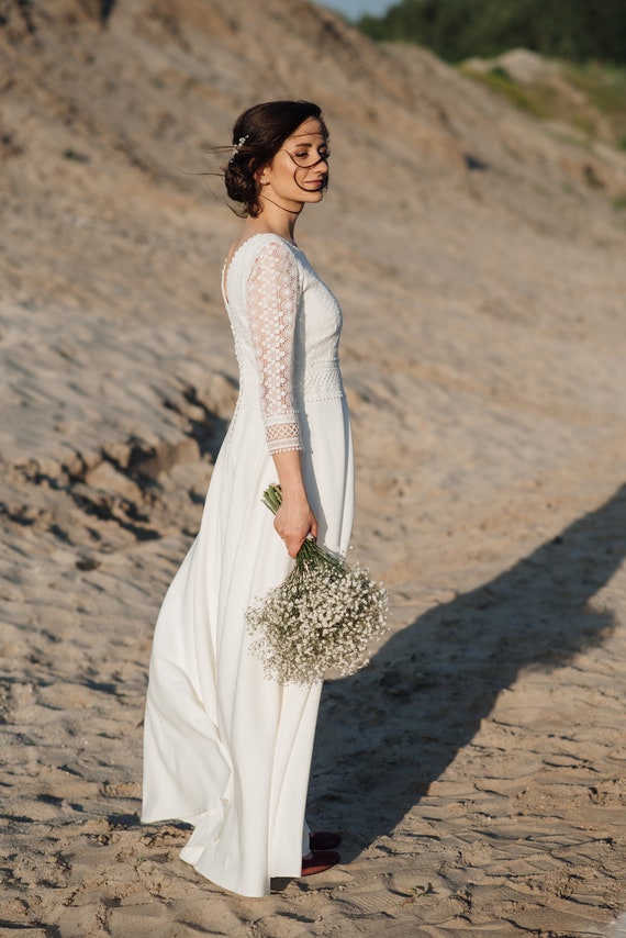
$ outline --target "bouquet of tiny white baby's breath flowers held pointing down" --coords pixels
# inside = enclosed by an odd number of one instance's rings
[[[276,514],[280,485],[266,489],[262,502]],[[309,537],[287,579],[247,610],[250,650],[281,684],[311,684],[328,670],[354,674],[387,632],[387,612],[382,583]]]

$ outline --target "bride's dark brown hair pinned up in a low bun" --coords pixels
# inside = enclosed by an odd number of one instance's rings
[[[224,172],[226,192],[242,202],[242,217],[256,219],[261,211],[259,185],[255,179],[271,163],[284,141],[309,118],[316,118],[328,136],[322,110],[311,101],[267,101],[239,114],[233,127],[233,155]]]

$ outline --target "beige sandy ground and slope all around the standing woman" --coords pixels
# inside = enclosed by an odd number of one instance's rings
[[[0,12],[0,935],[624,935],[625,155],[303,0]],[[245,900],[137,812],[154,621],[236,398],[238,223],[195,174],[275,97],[332,131],[299,238],[393,616],[323,696],[309,816],[343,863]]]

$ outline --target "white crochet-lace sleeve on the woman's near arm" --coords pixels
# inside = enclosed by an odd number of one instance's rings
[[[293,402],[298,266],[276,241],[258,253],[248,278],[248,322],[259,375],[261,413],[270,453],[302,449]]]

